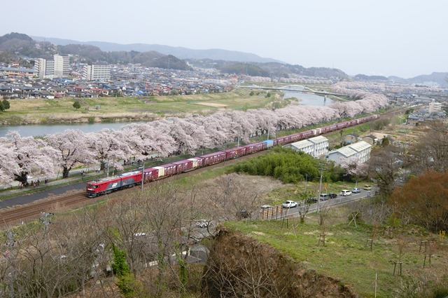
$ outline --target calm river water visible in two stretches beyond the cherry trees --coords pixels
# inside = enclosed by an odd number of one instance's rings
[[[303,87],[293,86],[288,89],[303,90]],[[295,91],[283,91],[283,99],[295,97],[300,99],[300,104],[314,107],[325,107],[333,103],[332,100],[321,95],[306,94]],[[144,123],[144,122],[139,122]],[[66,123],[66,124],[32,124],[27,126],[0,126],[0,137],[5,137],[10,130],[17,130],[22,137],[37,137],[63,133],[67,129],[78,129],[84,133],[95,133],[103,128],[118,130],[130,123]]]

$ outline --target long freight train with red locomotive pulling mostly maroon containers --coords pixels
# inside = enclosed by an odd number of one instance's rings
[[[94,180],[91,182],[87,182],[87,187],[85,188],[86,194],[90,198],[94,198],[102,194],[110,194],[112,191],[117,191],[128,187],[134,187],[135,185],[141,184],[142,179],[144,180],[143,181],[144,183],[159,180],[165,177],[170,177],[172,175],[179,174],[180,172],[187,172],[190,170],[195,170],[197,168],[205,167],[207,165],[214,165],[215,163],[221,163],[223,161],[228,161],[229,159],[239,158],[240,156],[253,154],[255,152],[268,149],[270,147],[289,144],[300,140],[308,139],[309,137],[314,137],[316,135],[330,133],[334,130],[339,130],[350,126],[356,126],[360,123],[373,121],[374,119],[377,118],[378,115],[365,116],[363,118],[344,121],[342,123],[335,123],[331,124],[330,126],[315,128],[301,133],[295,133],[293,135],[276,137],[273,140],[265,140],[262,142],[247,144],[244,146],[226,149],[224,151],[218,151],[211,154],[205,154],[202,156],[188,158],[183,161],[175,161],[173,163],[159,165],[153,168],[144,168],[143,170],[134,170],[132,172],[125,172],[116,177],[106,177],[99,180]]]

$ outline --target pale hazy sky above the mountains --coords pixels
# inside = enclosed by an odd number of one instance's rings
[[[3,1],[0,35],[254,53],[347,74],[448,72],[446,0]]]

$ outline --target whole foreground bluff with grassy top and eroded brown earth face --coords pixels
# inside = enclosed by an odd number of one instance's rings
[[[437,284],[447,278],[446,238],[414,226],[374,228],[348,221],[318,226],[315,222],[226,224],[208,261],[211,297],[216,289],[229,290],[217,280],[242,283],[232,289],[239,291],[237,296],[250,292],[244,286],[249,284],[244,281],[248,276],[258,280],[258,288],[277,292],[277,297],[375,297],[375,283],[376,297],[434,297],[430,295],[437,292]],[[426,248],[421,241],[428,241]]]

